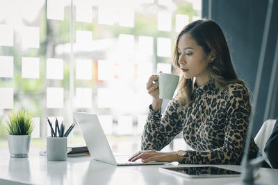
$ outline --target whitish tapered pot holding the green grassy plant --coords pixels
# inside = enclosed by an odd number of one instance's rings
[[[28,157],[31,135],[7,135],[10,157]]]

